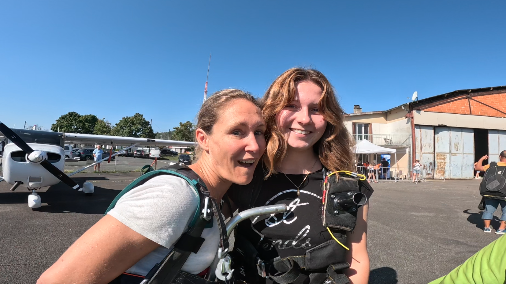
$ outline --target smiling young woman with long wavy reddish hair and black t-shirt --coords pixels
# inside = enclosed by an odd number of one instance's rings
[[[228,194],[239,211],[277,203],[288,205],[289,210],[284,214],[243,222],[236,230],[239,250],[245,250],[239,243],[247,240],[258,252],[259,271],[264,266],[265,270],[271,271],[265,273],[266,283],[286,283],[286,278],[277,278],[277,275],[284,275],[283,272],[289,271],[289,268],[275,265],[277,257],[283,260],[306,255],[307,264],[308,250],[332,240],[330,230],[322,225],[324,173],[356,171],[356,167],[350,148],[351,136],[344,125],[344,111],[332,85],[321,72],[305,68],[287,70],[271,84],[262,99],[262,107],[268,133],[264,163],[259,163],[254,180],[249,185],[234,185]],[[370,197],[372,188],[366,181],[360,185],[360,191]],[[253,187],[261,189],[248,190]],[[339,246],[337,250],[340,251],[335,251],[335,254],[343,256],[342,263],[350,264],[350,268],[341,272],[353,284],[366,284],[369,278],[367,209],[368,203],[358,208],[353,231],[340,231],[342,234],[339,235],[345,242],[343,247],[349,250]],[[327,266],[308,271],[303,265],[304,261],[299,264],[300,275],[291,283],[321,284],[328,279],[328,273],[325,273]],[[247,263],[243,266],[243,270],[248,270]],[[274,277],[269,278],[269,274]],[[250,277],[246,280],[250,283],[264,281],[263,278]],[[342,283],[345,282],[342,280]]]

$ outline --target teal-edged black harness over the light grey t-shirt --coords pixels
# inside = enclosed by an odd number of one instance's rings
[[[232,269],[230,268],[231,259],[228,255],[229,242],[227,231],[225,229],[225,222],[223,221],[218,203],[214,198],[209,196],[209,191],[207,191],[207,188],[200,177],[184,164],[175,164],[158,170],[153,170],[153,168],[148,165],[143,167],[141,174],[142,175],[138,177],[138,179],[126,186],[126,188],[123,189],[116,198],[114,198],[109,208],[107,208],[106,214],[109,210],[114,208],[119,198],[121,198],[121,196],[125,193],[146,183],[148,180],[152,179],[152,177],[162,174],[175,175],[188,182],[188,184],[192,186],[199,196],[198,209],[188,226],[188,230],[184,232],[179,240],[174,244],[173,250],[165,256],[161,262],[153,266],[145,277],[123,273],[109,284],[228,283],[228,281],[232,278]],[[216,269],[216,276],[221,281],[206,280],[202,277],[205,273],[195,275],[181,271],[181,268],[190,254],[196,254],[204,242],[204,238],[201,237],[204,228],[213,227],[213,216],[216,216],[216,219],[218,220],[217,225],[220,232],[220,247],[218,255],[220,262],[218,264],[218,268]],[[209,272],[207,271],[207,273]]]

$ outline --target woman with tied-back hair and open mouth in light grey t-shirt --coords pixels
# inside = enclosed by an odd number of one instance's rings
[[[195,138],[200,158],[190,165],[218,202],[236,183],[248,184],[265,150],[265,122],[257,100],[222,90],[200,109]],[[182,178],[159,175],[123,195],[115,207],[77,239],[38,279],[38,284],[106,284],[123,272],[145,276],[172,249],[197,210],[198,194]],[[199,274],[213,261],[217,220],[182,271]],[[142,278],[141,278],[142,279]]]

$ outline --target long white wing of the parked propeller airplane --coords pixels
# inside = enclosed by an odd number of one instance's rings
[[[109,135],[94,135],[94,134],[77,134],[77,133],[63,133],[65,135],[65,143],[86,143],[86,144],[99,144],[99,145],[114,145],[114,146],[131,146],[139,143],[139,146],[195,146],[195,142],[176,141],[176,140],[163,140],[163,139],[149,139],[149,138],[134,138],[134,137],[121,137]]]

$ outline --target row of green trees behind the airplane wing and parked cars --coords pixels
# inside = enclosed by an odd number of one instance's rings
[[[157,138],[179,141],[194,141],[195,125],[190,121],[180,122],[174,131],[153,132],[153,128],[142,114],[121,118],[114,126],[105,118],[96,115],[80,115],[69,112],[60,116],[51,125],[51,130],[68,133],[113,135],[124,137]]]

